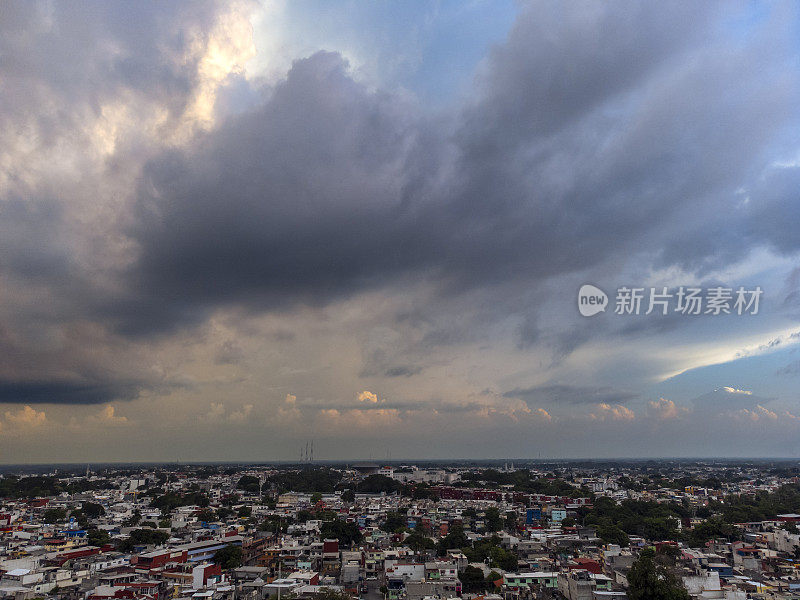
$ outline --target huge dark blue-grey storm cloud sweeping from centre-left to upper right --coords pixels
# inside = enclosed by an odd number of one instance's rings
[[[764,41],[785,37],[777,25],[754,26],[742,49],[722,16],[532,6],[455,129],[357,83],[336,54],[297,61],[260,108],[145,169],[135,292],[107,308],[147,333],[219,305],[321,304],[404,280],[502,289],[651,248],[667,264],[729,257],[701,223],[760,168],[796,82],[772,85],[768,65],[794,56]],[[764,220],[790,221],[788,192]]]

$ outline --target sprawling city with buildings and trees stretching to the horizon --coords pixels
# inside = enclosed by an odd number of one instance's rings
[[[796,598],[797,461],[8,468],[20,600]]]

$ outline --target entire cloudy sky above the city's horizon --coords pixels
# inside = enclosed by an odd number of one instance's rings
[[[799,12],[4,2],[0,462],[800,456]]]

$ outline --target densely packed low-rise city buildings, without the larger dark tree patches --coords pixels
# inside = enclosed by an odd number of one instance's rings
[[[641,472],[583,469],[562,481],[592,495],[567,497],[459,485],[465,471],[359,465],[342,469],[344,483],[330,493],[277,489],[275,468],[71,476],[65,483],[97,489],[0,504],[0,598],[614,599],[626,598],[632,565],[655,546],[692,598],[800,599],[800,515],[741,523],[738,540],[699,548],[638,537],[621,547],[580,524],[599,496],[707,505],[791,479],[761,473],[723,489],[644,489]],[[359,493],[373,475],[434,493]],[[92,485],[99,480],[108,486]],[[159,505],[154,488],[207,502]],[[500,527],[491,523],[498,515]]]

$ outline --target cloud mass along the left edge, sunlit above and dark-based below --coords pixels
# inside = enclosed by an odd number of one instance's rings
[[[90,404],[161,385],[133,374],[141,365],[115,362],[126,344],[103,332],[104,260],[125,208],[93,213],[112,204],[108,183],[155,149],[120,130],[119,152],[103,163],[95,127],[114,125],[115,111],[145,121],[158,110],[168,135],[194,96],[197,48],[217,11],[212,2],[3,3],[3,402]]]

